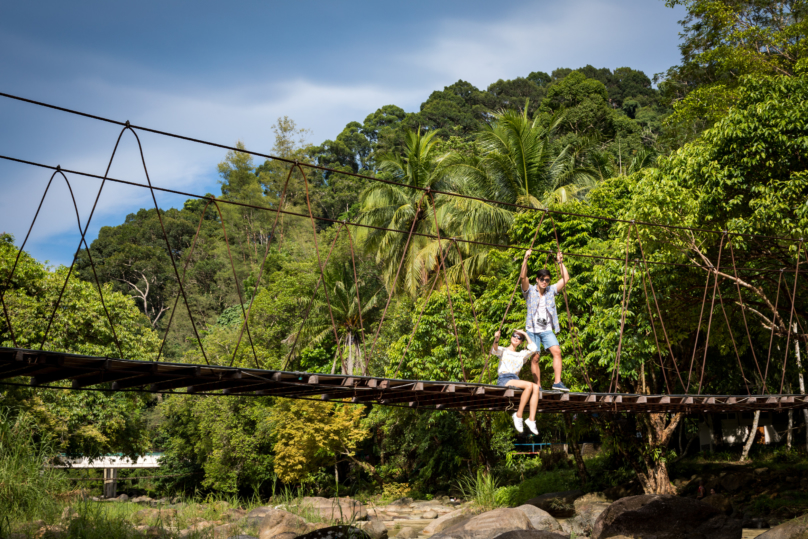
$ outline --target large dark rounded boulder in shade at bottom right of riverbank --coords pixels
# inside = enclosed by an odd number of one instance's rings
[[[592,537],[643,539],[741,539],[741,522],[692,498],[642,494],[611,504],[595,522]]]

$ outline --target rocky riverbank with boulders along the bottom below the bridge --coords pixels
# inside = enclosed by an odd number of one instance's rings
[[[238,508],[212,513],[177,499],[125,495],[117,503],[130,510],[135,536],[178,539],[798,539],[808,536],[808,518],[768,530],[744,530],[744,514],[728,497],[704,500],[680,496],[633,495],[611,500],[606,493],[550,493],[512,508],[482,511],[470,502],[441,497],[409,498],[387,505],[351,498],[299,498],[287,505]],[[196,511],[198,516],[190,516]],[[210,515],[215,514],[211,518]],[[205,518],[206,515],[209,518]],[[68,537],[78,511],[67,508],[58,524],[12,535]],[[335,525],[335,523],[339,525]]]

